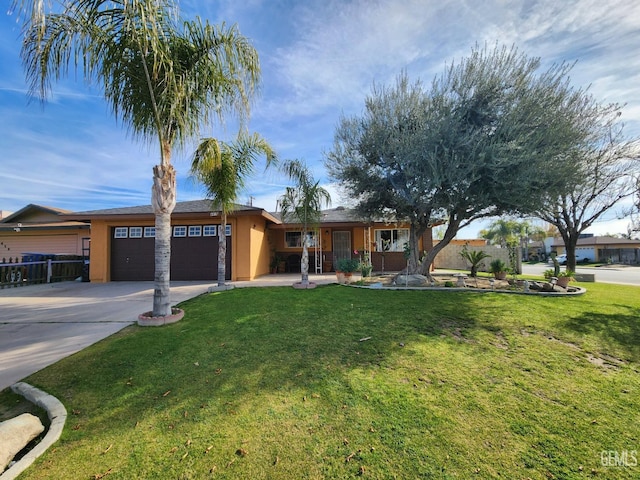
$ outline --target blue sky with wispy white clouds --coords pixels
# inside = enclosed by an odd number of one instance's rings
[[[237,24],[259,52],[261,94],[250,129],[281,158],[304,159],[328,185],[323,152],[332,147],[341,114],[363,111],[372,85],[406,70],[428,83],[476,43],[516,45],[543,64],[574,62],[575,86],[602,102],[626,104],[630,136],[640,135],[640,2],[637,0],[219,0],[181,1],[184,18]],[[150,202],[158,149],[132,140],[79,75],[54,85],[42,106],[29,100],[20,62],[16,15],[0,14],[0,210],[29,203],[90,210]],[[233,122],[204,129],[230,139]],[[187,178],[195,147],[176,152],[178,200],[202,198]],[[286,179],[259,166],[241,195],[273,211]],[[618,233],[626,220],[605,216],[590,231]],[[461,237],[474,236],[482,223]]]

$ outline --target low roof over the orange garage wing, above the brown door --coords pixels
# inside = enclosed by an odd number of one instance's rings
[[[186,202],[177,202],[173,209],[172,216],[176,217],[190,217],[190,216],[202,216],[202,215],[219,215],[220,212],[216,211],[215,205],[211,200],[189,200]],[[252,207],[248,205],[236,204],[234,206],[233,215],[261,215],[267,220],[273,223],[280,223],[280,220],[273,217],[270,213],[266,212],[262,208]],[[75,220],[92,220],[98,218],[120,218],[122,216],[127,217],[149,217],[153,215],[153,208],[151,205],[139,205],[136,207],[118,207],[118,208],[105,208],[102,210],[87,210],[84,212],[73,212],[65,215],[67,218]]]

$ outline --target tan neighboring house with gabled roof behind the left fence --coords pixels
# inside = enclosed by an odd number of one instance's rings
[[[89,248],[89,225],[73,221],[71,213],[29,204],[0,220],[0,261],[23,253],[83,255]]]

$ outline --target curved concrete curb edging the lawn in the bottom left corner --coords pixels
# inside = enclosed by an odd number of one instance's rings
[[[67,409],[64,405],[53,395],[49,395],[42,390],[39,390],[28,383],[18,382],[11,385],[11,390],[18,395],[22,395],[31,403],[36,404],[40,408],[46,410],[47,416],[51,421],[51,425],[47,430],[47,434],[42,441],[38,443],[33,449],[22,457],[19,461],[14,463],[11,467],[0,474],[0,480],[14,480],[27,467],[29,467],[40,455],[47,451],[47,449],[58,441],[60,435],[62,435],[62,429],[67,421]]]

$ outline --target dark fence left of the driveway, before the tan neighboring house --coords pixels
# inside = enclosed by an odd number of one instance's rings
[[[79,277],[88,280],[87,267],[85,259],[79,255],[3,258],[0,262],[0,288],[62,282]]]

